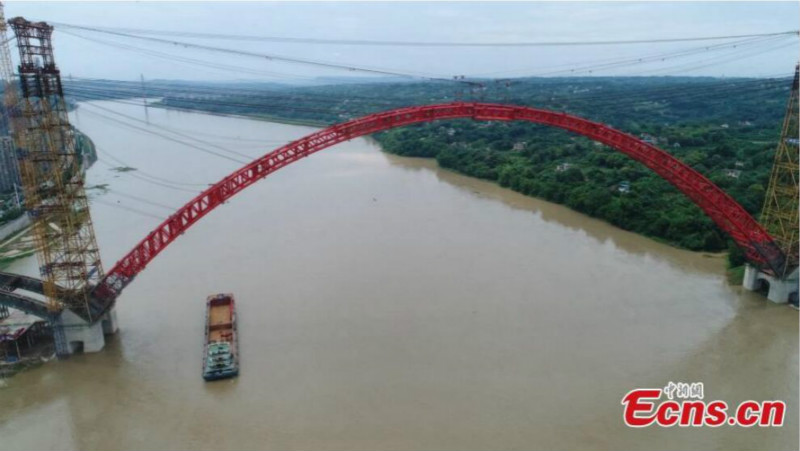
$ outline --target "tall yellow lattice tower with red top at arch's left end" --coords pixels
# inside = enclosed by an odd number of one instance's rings
[[[93,322],[89,295],[104,274],[83,186],[84,158],[75,149],[53,58],[53,27],[21,17],[8,23],[20,56],[19,100],[9,100],[9,111],[44,293],[54,318],[68,308]]]

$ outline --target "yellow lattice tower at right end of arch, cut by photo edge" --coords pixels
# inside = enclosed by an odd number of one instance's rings
[[[798,136],[798,82],[800,65],[795,67],[789,103],[783,120],[775,162],[769,180],[761,224],[775,239],[786,255],[786,263],[781,268],[783,277],[797,268],[798,264],[798,190],[800,189],[800,137]]]

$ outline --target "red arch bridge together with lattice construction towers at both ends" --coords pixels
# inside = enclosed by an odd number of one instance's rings
[[[0,24],[0,35],[5,36],[2,9]],[[736,242],[753,265],[749,267],[750,273],[745,273],[745,285],[757,283],[758,277],[772,277],[774,281],[791,273],[796,278],[797,70],[781,144],[776,152],[765,214],[762,214],[768,227],[759,224],[705,176],[630,134],[563,112],[518,105],[455,102],[369,114],[275,149],[198,194],[145,236],[108,272],[104,272],[92,230],[82,172],[76,170],[80,159],[71,139],[60,72],[54,62],[50,39],[53,27],[19,17],[9,24],[14,28],[20,49],[21,99],[15,97],[16,89],[10,84],[14,77],[7,39],[0,43],[0,75],[9,83],[5,90],[6,106],[12,118],[17,147],[22,149],[19,161],[26,208],[34,223],[42,279],[0,272],[0,306],[49,319],[54,325],[56,348],[61,355],[69,353],[62,327],[64,317],[70,316],[71,325],[77,328],[94,328],[91,333],[96,336],[95,325],[109,318],[122,291],[148,263],[204,216],[248,186],[343,141],[395,127],[448,119],[542,124],[616,149],[675,186]],[[794,140],[792,143],[789,143],[790,137]],[[52,248],[51,243],[54,243]],[[796,283],[793,289],[796,291]],[[38,295],[44,295],[49,302],[41,300]],[[102,336],[100,339],[102,341]]]

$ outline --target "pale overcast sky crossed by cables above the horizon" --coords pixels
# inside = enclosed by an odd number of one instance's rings
[[[783,3],[215,3],[7,2],[6,17],[75,25],[235,35],[391,41],[597,41],[742,35],[796,30],[798,2]],[[191,50],[56,26],[62,72],[77,77],[235,80],[362,75],[266,59]],[[79,33],[92,39],[73,35]],[[534,48],[310,45],[171,37],[251,52],[286,55],[431,76],[521,76],[592,66],[580,75],[773,76],[792,72],[798,38],[700,50],[730,41]],[[102,41],[104,43],[95,42]],[[111,43],[112,45],[109,45]],[[119,45],[128,46],[120,48]],[[12,47],[14,44],[12,43]],[[624,60],[698,49],[648,64],[596,68]],[[12,48],[16,53],[16,48]],[[150,52],[161,52],[158,55]],[[178,62],[171,56],[199,62]],[[16,55],[15,55],[16,59]],[[225,67],[209,67],[209,63]],[[239,70],[239,69],[245,70]],[[558,75],[560,73],[555,73]],[[565,73],[568,75],[568,73]]]

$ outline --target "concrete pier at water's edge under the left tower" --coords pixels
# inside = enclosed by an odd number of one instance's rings
[[[56,344],[56,355],[59,358],[83,352],[99,352],[106,344],[106,335],[112,335],[119,329],[117,312],[112,309],[94,324],[64,310],[51,320],[53,338]]]

